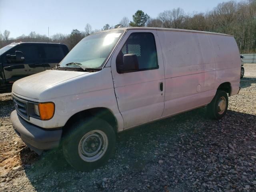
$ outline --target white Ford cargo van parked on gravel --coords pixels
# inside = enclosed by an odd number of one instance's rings
[[[62,146],[71,166],[92,170],[108,160],[118,132],[202,106],[222,118],[240,69],[230,35],[106,30],[81,40],[55,70],[16,81],[11,121],[38,154]]]

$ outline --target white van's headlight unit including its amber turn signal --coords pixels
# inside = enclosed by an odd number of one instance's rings
[[[41,120],[50,120],[54,116],[55,104],[53,102],[30,103],[29,116]]]

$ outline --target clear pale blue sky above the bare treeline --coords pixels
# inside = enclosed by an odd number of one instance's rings
[[[10,38],[31,31],[52,36],[70,34],[72,29],[84,31],[105,24],[114,26],[126,16],[132,20],[137,10],[156,18],[164,10],[182,8],[185,13],[206,12],[228,0],[0,0],[0,33],[10,31]]]

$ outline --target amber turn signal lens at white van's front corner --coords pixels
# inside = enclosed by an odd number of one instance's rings
[[[38,110],[42,120],[49,120],[54,115],[55,105],[53,102],[39,103]]]

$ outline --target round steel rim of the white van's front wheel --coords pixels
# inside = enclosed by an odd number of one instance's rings
[[[108,137],[101,130],[86,133],[78,144],[78,154],[86,162],[102,158],[108,149]]]

